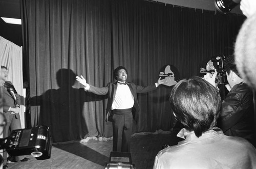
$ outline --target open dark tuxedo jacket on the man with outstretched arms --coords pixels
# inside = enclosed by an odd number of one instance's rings
[[[140,111],[137,93],[150,92],[152,90],[157,89],[157,87],[156,87],[155,83],[153,85],[146,86],[146,87],[137,86],[133,82],[128,82],[127,85],[129,86],[131,93],[134,97],[134,106],[132,109],[132,113],[133,113],[134,120],[137,122],[137,120],[139,118],[139,111]],[[116,90],[117,90],[117,81],[115,83],[108,83],[108,85],[103,88],[97,88],[97,87],[90,85],[89,92],[92,92],[97,95],[108,95],[108,104],[106,106],[106,113],[107,113],[106,121],[112,121],[111,107],[112,107],[112,104],[113,104],[113,101],[114,101],[114,98],[116,95]]]

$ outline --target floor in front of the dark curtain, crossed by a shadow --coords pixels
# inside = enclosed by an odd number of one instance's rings
[[[152,168],[157,153],[163,144],[176,145],[179,140],[176,132],[170,134],[147,134],[132,137],[131,154],[132,162],[136,168]],[[105,162],[109,161],[112,151],[112,140],[99,142],[89,140],[87,143],[54,144],[51,158],[36,160],[31,155],[26,162],[8,164],[9,169],[66,169],[66,168],[104,168]]]

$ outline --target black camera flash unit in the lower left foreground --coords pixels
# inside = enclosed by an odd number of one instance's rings
[[[13,130],[10,136],[0,138],[0,149],[6,149],[10,156],[31,154],[37,160],[49,159],[52,150],[49,127]]]

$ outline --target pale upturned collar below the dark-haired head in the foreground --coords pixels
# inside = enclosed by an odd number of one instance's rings
[[[177,137],[183,138],[185,140],[196,140],[196,139],[208,138],[210,135],[218,135],[218,134],[223,134],[223,131],[218,127],[214,127],[210,130],[205,131],[204,133],[202,133],[200,137],[197,137],[194,131],[188,131],[187,129],[183,128],[177,134]]]

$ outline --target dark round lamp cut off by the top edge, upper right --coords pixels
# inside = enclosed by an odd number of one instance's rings
[[[215,7],[222,13],[230,12],[234,7],[239,5],[241,0],[215,0]]]

